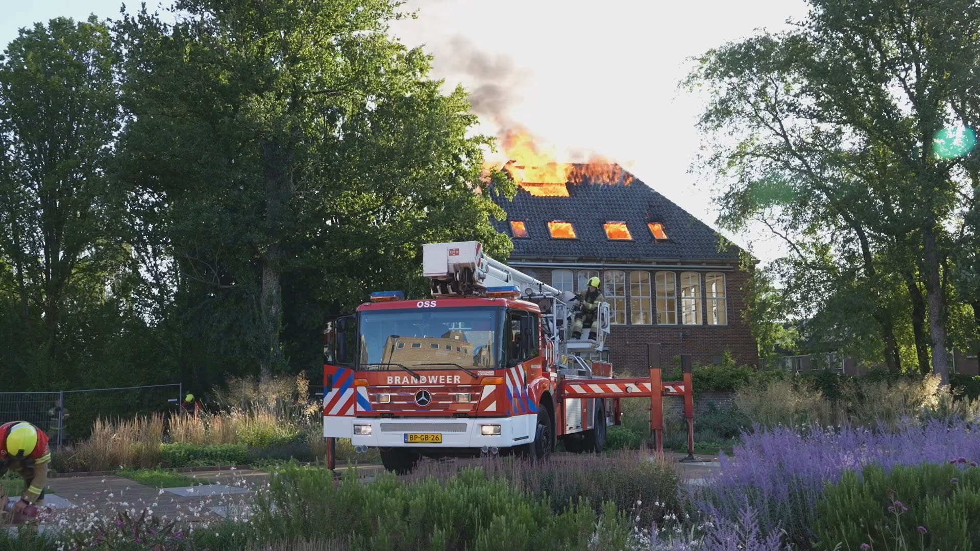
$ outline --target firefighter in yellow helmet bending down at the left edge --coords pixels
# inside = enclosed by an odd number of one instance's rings
[[[44,485],[50,464],[48,435],[43,430],[23,421],[0,425],[0,476],[10,470],[24,478],[24,492],[13,508],[15,519],[28,506],[44,507]]]

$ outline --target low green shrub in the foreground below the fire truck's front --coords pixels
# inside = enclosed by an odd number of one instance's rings
[[[622,549],[630,527],[613,504],[601,516],[585,503],[555,514],[479,468],[411,482],[385,474],[369,484],[348,474],[336,484],[328,471],[292,465],[256,504],[251,524],[265,538],[346,540],[348,549]]]

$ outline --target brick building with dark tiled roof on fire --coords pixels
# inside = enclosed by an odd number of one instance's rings
[[[603,356],[618,373],[645,370],[650,342],[665,362],[687,353],[717,363],[726,349],[740,365],[757,362],[741,250],[618,167],[573,167],[567,183],[521,183],[513,201],[498,200],[508,221],[497,228],[515,247],[508,264],[576,292],[598,275],[613,321]]]

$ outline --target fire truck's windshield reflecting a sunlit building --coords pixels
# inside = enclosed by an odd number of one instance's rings
[[[499,308],[363,312],[361,369],[400,369],[388,364],[423,370],[494,369],[500,357],[502,314]]]

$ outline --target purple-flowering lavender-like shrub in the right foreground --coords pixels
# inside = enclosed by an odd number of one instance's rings
[[[870,464],[890,471],[950,457],[980,458],[980,438],[961,420],[907,421],[896,431],[810,426],[803,435],[786,426],[760,427],[744,435],[734,453],[737,461],[718,458],[720,473],[711,486],[690,490],[697,507],[729,521],[752,507],[767,534],[782,523],[794,542],[807,547],[827,482]]]

